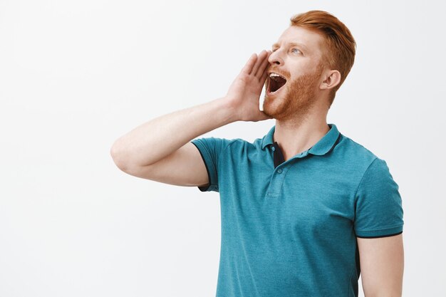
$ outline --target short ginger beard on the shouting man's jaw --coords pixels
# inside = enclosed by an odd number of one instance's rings
[[[318,65],[313,73],[307,73],[295,80],[287,81],[282,86],[284,90],[280,90],[280,93],[276,94],[274,98],[268,96],[266,92],[263,112],[276,120],[287,123],[300,123],[305,120],[316,103],[316,90],[322,71],[323,66]]]

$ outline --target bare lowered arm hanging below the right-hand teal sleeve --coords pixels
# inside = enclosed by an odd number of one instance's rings
[[[359,238],[361,281],[365,297],[401,297],[403,292],[403,234]]]

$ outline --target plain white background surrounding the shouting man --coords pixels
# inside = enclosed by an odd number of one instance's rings
[[[327,120],[400,186],[403,296],[446,296],[441,3],[0,0],[0,296],[214,296],[218,193],[125,174],[110,147],[225,95],[311,9],[358,43]],[[274,123],[204,136],[253,141]]]

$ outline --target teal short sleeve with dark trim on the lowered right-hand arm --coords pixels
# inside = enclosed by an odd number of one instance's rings
[[[403,205],[387,163],[375,158],[356,192],[354,229],[357,237],[375,238],[403,233]]]

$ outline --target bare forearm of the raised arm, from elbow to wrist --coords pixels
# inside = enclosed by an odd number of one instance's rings
[[[118,138],[111,155],[123,167],[153,164],[190,140],[237,121],[227,98],[177,110],[144,123]]]

